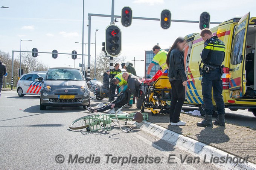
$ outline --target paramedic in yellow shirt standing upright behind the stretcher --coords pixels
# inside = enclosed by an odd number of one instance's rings
[[[160,46],[158,46],[158,45],[155,45],[152,49],[155,54],[155,57],[153,58],[153,60],[151,61],[151,63],[148,66],[148,71],[147,71],[147,76],[146,76],[147,78],[151,77],[150,71],[154,65],[159,64],[160,67],[162,68],[162,70],[161,70],[162,72],[164,72],[165,70],[168,69],[168,66],[166,64],[166,58],[167,58],[166,56],[167,56],[168,52],[161,49]]]

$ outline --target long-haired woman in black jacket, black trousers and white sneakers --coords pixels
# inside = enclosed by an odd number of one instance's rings
[[[167,54],[166,64],[169,67],[168,77],[172,86],[170,124],[173,126],[186,125],[180,120],[181,107],[185,101],[185,87],[187,76],[184,66],[183,49],[186,41],[178,37]]]

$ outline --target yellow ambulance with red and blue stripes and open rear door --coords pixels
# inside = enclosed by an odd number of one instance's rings
[[[222,63],[222,96],[225,107],[233,111],[248,109],[256,116],[256,17],[250,18],[249,12],[243,17],[222,22],[211,30],[226,46],[225,59]],[[184,60],[188,84],[184,105],[197,106],[201,115],[204,115],[202,76],[198,66],[201,62],[200,52],[203,50],[204,40],[199,33],[189,34],[186,38],[188,47],[184,53]],[[216,111],[213,98],[212,101]]]

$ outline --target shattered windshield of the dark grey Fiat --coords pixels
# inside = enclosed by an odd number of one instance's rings
[[[49,69],[46,80],[84,81],[84,78],[78,69]]]

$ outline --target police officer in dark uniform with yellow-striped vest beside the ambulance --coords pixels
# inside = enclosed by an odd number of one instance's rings
[[[205,117],[202,122],[197,122],[197,126],[213,127],[214,125],[225,126],[225,106],[222,98],[221,64],[224,61],[225,45],[213,36],[212,31],[204,28],[200,36],[204,40],[204,49],[201,53],[203,65],[202,94],[205,104]],[[212,88],[213,99],[216,102],[218,117],[212,124]]]

